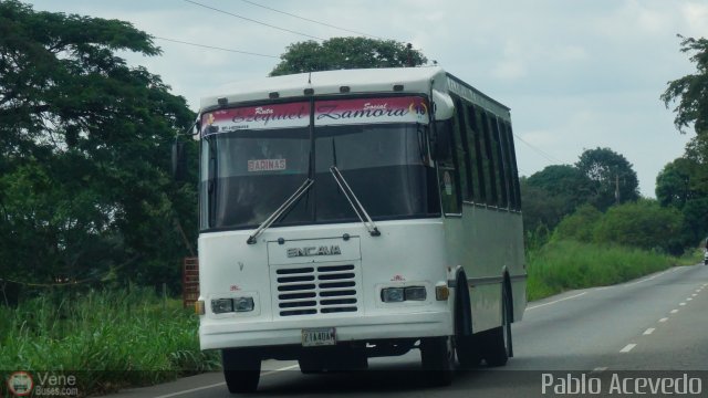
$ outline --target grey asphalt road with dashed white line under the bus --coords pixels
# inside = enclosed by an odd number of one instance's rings
[[[702,264],[530,303],[512,331],[516,356],[506,367],[460,370],[449,387],[427,386],[413,350],[372,359],[369,370],[352,374],[303,375],[296,363],[268,360],[257,396],[548,397],[582,386],[581,396],[662,396],[650,388],[666,378],[668,392],[691,385],[686,392],[700,391],[688,396],[708,396],[708,266]],[[217,373],[111,397],[233,396]]]

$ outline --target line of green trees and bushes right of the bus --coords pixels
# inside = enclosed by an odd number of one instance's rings
[[[585,150],[575,165],[553,165],[524,177],[527,243],[551,239],[616,243],[681,254],[708,235],[708,40],[681,38],[696,73],[668,83],[660,96],[677,103],[675,125],[696,136],[684,156],[656,178],[656,200],[641,198],[632,165],[610,148]]]

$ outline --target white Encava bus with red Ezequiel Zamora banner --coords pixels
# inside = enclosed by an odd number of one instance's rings
[[[263,359],[317,373],[419,348],[437,385],[507,363],[525,307],[509,108],[440,67],[225,92],[198,126],[197,312],[231,392]]]

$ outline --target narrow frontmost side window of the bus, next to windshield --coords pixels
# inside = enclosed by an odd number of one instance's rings
[[[446,214],[459,214],[460,192],[459,192],[459,175],[457,174],[457,149],[455,137],[452,134],[452,121],[442,121],[436,123],[438,136],[441,139],[449,140],[450,145],[442,154],[438,154],[438,181],[440,185],[440,202],[442,203],[442,212]]]

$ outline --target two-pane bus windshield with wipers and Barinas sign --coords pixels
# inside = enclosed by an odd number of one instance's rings
[[[374,220],[439,216],[425,137],[427,126],[417,123],[315,124],[314,136],[310,127],[209,135],[201,146],[201,229],[258,227],[309,177],[314,185],[273,227],[358,222],[333,165]]]

